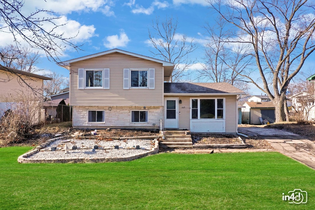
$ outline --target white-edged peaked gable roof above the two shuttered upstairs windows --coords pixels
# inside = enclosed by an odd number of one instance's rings
[[[111,50],[107,50],[107,51],[100,52],[100,53],[86,55],[86,56],[83,56],[83,57],[79,57],[79,58],[75,58],[75,59],[59,62],[59,63],[57,63],[57,65],[59,65],[61,67],[64,67],[64,68],[69,70],[68,66],[70,66],[71,63],[82,61],[82,60],[86,60],[86,59],[90,59],[90,58],[95,58],[95,57],[98,57],[98,56],[107,55],[107,54],[111,54],[111,53],[122,53],[122,54],[130,55],[130,56],[134,56],[134,57],[137,57],[137,58],[142,58],[142,59],[151,60],[151,61],[154,61],[154,62],[157,62],[157,63],[161,63],[163,65],[163,67],[164,67],[164,75],[165,75],[165,77],[168,77],[168,78],[170,78],[170,76],[172,75],[172,72],[173,72],[174,66],[175,66],[173,63],[170,63],[170,62],[167,62],[167,61],[164,61],[164,60],[159,60],[159,59],[151,58],[151,57],[148,57],[148,56],[145,56],[145,55],[131,53],[131,52],[124,51],[124,50],[121,50],[121,49],[111,49]]]

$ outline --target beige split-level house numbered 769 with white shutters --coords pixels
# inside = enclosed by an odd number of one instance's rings
[[[174,64],[120,49],[59,63],[70,71],[74,128],[160,128],[237,133],[228,83],[169,83]]]

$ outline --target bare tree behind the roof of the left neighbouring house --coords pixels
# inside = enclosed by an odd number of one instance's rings
[[[35,66],[39,64],[39,52],[32,52],[30,48],[20,47],[9,44],[4,47],[0,46],[0,58],[2,65],[11,67],[21,71],[34,73],[42,69],[37,69]]]

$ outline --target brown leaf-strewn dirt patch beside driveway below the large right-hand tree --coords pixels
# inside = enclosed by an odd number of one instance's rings
[[[302,124],[302,123],[273,123],[266,125],[265,128],[277,128],[287,130],[302,136],[308,137],[310,140],[315,141],[315,124]]]

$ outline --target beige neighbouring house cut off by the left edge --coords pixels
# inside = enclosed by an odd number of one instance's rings
[[[43,81],[52,78],[0,66],[0,117],[5,111],[28,113],[31,124],[45,120]]]

